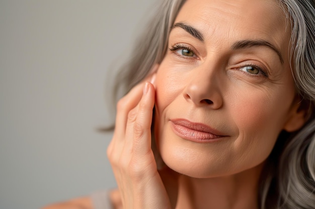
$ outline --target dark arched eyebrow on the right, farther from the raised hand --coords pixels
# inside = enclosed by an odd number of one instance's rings
[[[275,51],[280,59],[280,62],[283,64],[283,57],[280,53],[280,50],[278,50],[275,46],[273,46],[272,44],[270,44],[267,41],[264,40],[242,40],[242,41],[238,41],[235,42],[231,49],[232,50],[238,50],[238,49],[246,49],[246,48],[250,48],[250,47],[259,47],[259,46],[264,46],[264,47],[269,47],[270,49],[272,49],[273,51]]]

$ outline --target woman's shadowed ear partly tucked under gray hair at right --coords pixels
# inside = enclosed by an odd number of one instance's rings
[[[286,121],[283,129],[287,132],[293,132],[300,129],[307,121],[307,113],[309,112],[309,103],[306,100],[295,100],[291,107],[290,116]]]

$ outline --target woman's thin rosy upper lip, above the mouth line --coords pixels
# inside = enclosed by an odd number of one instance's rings
[[[203,123],[191,122],[187,119],[172,119],[171,121],[176,125],[181,125],[181,126],[190,128],[192,130],[208,132],[208,133],[211,133],[211,134],[214,134],[217,136],[225,136],[220,131],[218,131],[214,128],[211,128],[210,126],[203,124]]]

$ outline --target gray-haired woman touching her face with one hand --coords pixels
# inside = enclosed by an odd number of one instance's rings
[[[315,208],[314,5],[162,3],[117,82],[113,208]]]

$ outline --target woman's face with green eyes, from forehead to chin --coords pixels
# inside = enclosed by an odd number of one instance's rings
[[[276,1],[188,0],[156,74],[155,137],[194,177],[259,167],[296,105],[290,26]]]

